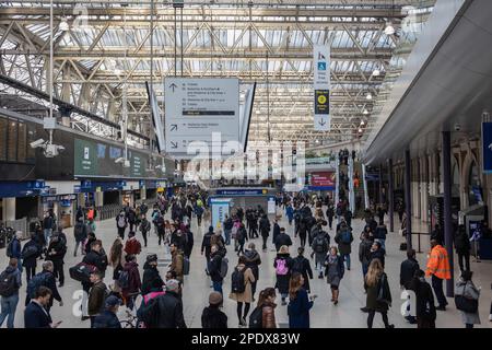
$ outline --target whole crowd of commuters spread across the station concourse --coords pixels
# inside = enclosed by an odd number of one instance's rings
[[[373,327],[376,314],[382,315],[386,328],[394,327],[388,317],[393,298],[385,272],[388,230],[383,207],[374,212],[364,212],[361,218],[364,228],[360,235],[355,235],[352,229],[353,214],[344,198],[335,205],[329,196],[304,192],[296,196],[279,195],[277,203],[284,210],[286,222],[292,225],[290,230],[280,225],[280,217],[269,218],[261,206],[234,208],[225,217],[221,229],[202,225],[209,222],[207,202],[207,192],[189,188],[172,197],[160,196],[152,208],[144,202],[124,206],[115,218],[116,238],[108,255],[103,242],[97,238],[94,223],[96,211],[93,207],[79,209],[73,228],[75,244],[70,252],[73,252],[74,257],[80,253],[82,258],[80,264],[69,268],[69,272],[70,278],[79,281],[85,292],[85,301],[81,306],[82,320],[89,319],[92,328],[119,328],[121,320],[117,314],[119,307],[125,305],[137,315],[137,327],[187,327],[183,288],[187,280],[185,277],[189,275],[195,245],[191,220],[197,220],[198,229],[204,231],[200,253],[203,255],[204,272],[213,289],[201,315],[202,327],[230,326],[231,320],[222,310],[224,299],[229,299],[236,303],[239,327],[276,328],[277,307],[286,307],[289,327],[308,328],[309,311],[317,298],[312,291],[313,281],[309,280],[315,276],[326,279],[331,303],[338,305],[344,296],[340,295],[340,285],[353,267],[351,255],[355,244],[362,269],[361,289],[366,296],[361,311],[367,313],[367,327]],[[166,219],[168,217],[171,220]],[[292,237],[288,231],[293,232]],[[156,254],[148,254],[142,267],[137,262],[137,257],[144,254],[148,236],[152,233],[159,237],[157,245],[164,246],[163,253],[171,255],[171,264],[163,277],[157,267]],[[272,261],[265,261],[257,245],[261,244],[265,253],[269,237],[277,255]],[[466,327],[473,327],[480,324],[480,289],[471,279],[470,245],[462,226],[456,232],[455,247],[461,269],[456,285],[456,305]],[[294,249],[296,256],[291,256]],[[7,250],[9,266],[0,276],[0,325],[7,319],[7,326],[14,327],[25,267],[24,326],[58,327],[60,322],[51,320],[50,308],[54,301],[63,305],[58,289],[65,284],[63,266],[68,247],[66,233],[57,225],[52,211],[47,212],[35,226],[30,241],[22,244],[19,234],[9,243]],[[36,273],[39,260],[43,260],[43,270]],[[259,279],[266,278],[261,271],[269,264],[273,267],[276,281],[268,288],[257,290]],[[104,280],[108,267],[113,283],[106,285]],[[426,278],[431,279],[431,283]],[[417,299],[414,310],[410,306],[407,308],[406,319],[409,323],[417,324],[419,328],[435,327],[436,311],[446,310],[443,282],[449,278],[447,250],[438,234],[432,235],[431,252],[424,269],[421,269],[415,252],[407,252],[407,259],[400,267],[400,287],[413,291]],[[231,282],[230,291],[224,291],[225,279]],[[139,295],[142,295],[141,304],[137,304]],[[277,304],[278,299],[280,306]]]

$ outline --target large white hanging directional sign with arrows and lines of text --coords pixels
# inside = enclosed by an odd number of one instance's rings
[[[166,152],[186,154],[194,141],[211,147],[212,132],[221,143],[239,140],[237,79],[165,79]]]

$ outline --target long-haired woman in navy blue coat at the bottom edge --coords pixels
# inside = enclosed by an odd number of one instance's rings
[[[309,310],[316,295],[309,300],[303,284],[303,276],[294,272],[289,283],[289,328],[309,328]]]

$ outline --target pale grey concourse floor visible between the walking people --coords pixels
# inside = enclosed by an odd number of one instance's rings
[[[281,209],[278,208],[278,212],[281,212]],[[387,218],[386,218],[387,219]],[[300,245],[298,237],[293,237],[293,225],[290,226],[289,222],[285,218],[282,218],[280,222],[281,226],[284,226],[291,237],[293,240],[294,246],[291,247],[291,255],[296,256],[296,249]],[[354,242],[352,244],[352,254],[351,260],[352,266],[351,270],[345,270],[344,278],[340,284],[340,296],[338,305],[333,306],[330,302],[330,292],[329,285],[326,282],[326,279],[318,279],[317,273],[315,272],[315,278],[311,280],[312,293],[317,294],[318,298],[315,301],[315,305],[311,311],[311,326],[313,328],[365,328],[367,314],[364,314],[360,311],[360,307],[365,305],[365,294],[363,289],[363,280],[362,280],[362,269],[361,264],[358,258],[358,249],[359,249],[359,235],[363,229],[363,220],[354,219],[352,222],[353,232],[354,232]],[[419,228],[420,224],[417,220],[414,220],[413,228]],[[208,304],[209,293],[212,291],[210,279],[204,273],[206,259],[200,255],[200,246],[203,231],[207,231],[209,226],[208,222],[203,222],[201,228],[197,228],[197,220],[192,219],[192,232],[195,234],[195,246],[191,254],[190,259],[190,275],[185,277],[184,284],[184,314],[185,320],[188,327],[200,328],[201,327],[201,312],[203,307]],[[335,226],[335,225],[333,225]],[[399,270],[400,264],[406,258],[405,252],[399,250],[399,245],[403,241],[402,237],[398,236],[398,219],[395,220],[395,233],[389,233],[386,247],[387,247],[387,256],[386,256],[386,273],[389,278],[389,284],[391,289],[393,295],[393,307],[390,308],[388,316],[389,322],[395,324],[396,328],[417,328],[415,325],[410,325],[408,322],[403,319],[401,316],[400,307],[403,304],[403,300],[400,300],[400,288],[399,288]],[[328,228],[327,228],[328,229]],[[413,231],[418,232],[415,229]],[[127,231],[128,233],[128,231]],[[75,291],[81,290],[81,285],[79,282],[72,280],[68,273],[68,269],[75,264],[80,262],[82,257],[80,252],[78,253],[78,257],[73,257],[73,247],[74,247],[74,238],[73,238],[73,230],[67,229],[66,234],[68,237],[68,253],[66,256],[66,265],[65,265],[65,275],[66,282],[62,288],[59,289],[60,294],[63,299],[63,306],[59,306],[57,302],[55,302],[51,307],[51,317],[54,322],[63,320],[60,328],[89,328],[90,322],[82,322],[80,316],[75,316],[72,312],[72,308],[77,308],[75,303],[79,301]],[[331,236],[331,243],[333,243],[333,231],[329,231]],[[116,222],[114,219],[97,221],[96,222],[96,236],[103,241],[103,245],[107,254],[109,253],[109,248],[117,236],[116,232]],[[143,247],[143,241],[141,238],[140,233],[137,234],[137,237],[141,241]],[[250,241],[249,241],[250,242]],[[262,264],[260,266],[260,277],[257,287],[258,295],[259,291],[267,287],[273,287],[276,277],[273,269],[273,259],[276,256],[273,245],[271,243],[271,236],[269,237],[269,249],[268,252],[261,252],[261,238],[253,240],[255,242],[257,250],[260,254]],[[422,269],[425,269],[426,264],[426,254],[429,246],[429,236],[422,236],[422,250],[424,253],[418,254],[418,260]],[[247,246],[247,244],[246,244]],[[245,246],[245,247],[246,247]],[[145,259],[147,254],[156,253],[160,258],[160,271],[161,276],[164,278],[165,271],[167,270],[167,265],[169,256],[165,253],[163,246],[157,245],[157,237],[153,234],[150,234],[149,237],[149,247],[142,248],[142,253],[140,254],[138,261],[140,265],[140,271],[142,275],[142,267]],[[305,256],[308,257],[311,254],[311,248],[306,248]],[[227,247],[227,258],[230,260],[230,271],[227,273],[226,279],[224,280],[224,308],[223,311],[229,317],[229,327],[236,328],[238,327],[238,320],[236,316],[236,303],[229,299],[229,292],[231,291],[231,270],[233,266],[236,264],[237,258],[234,253],[233,245]],[[312,261],[312,267],[314,266],[314,260]],[[7,266],[8,258],[5,257],[4,250],[0,255],[0,264],[1,268]],[[40,261],[38,260],[37,272],[40,270]],[[458,278],[459,269],[457,268],[457,258],[455,255],[455,278]],[[491,328],[492,323],[489,322],[489,310],[490,303],[492,300],[492,291],[491,291],[491,282],[492,282],[492,261],[482,260],[482,262],[475,262],[475,258],[471,257],[471,269],[475,271],[473,280],[476,285],[481,285],[481,296],[480,296],[480,318],[482,324],[476,325],[476,327]],[[106,271],[105,282],[109,285],[112,281],[113,269],[108,267]],[[23,287],[20,292],[20,302],[17,305],[17,311],[15,315],[15,327],[24,327],[24,300],[25,300],[25,272],[23,272]],[[137,301],[137,305],[140,305],[141,296],[139,296]],[[286,314],[286,306],[280,305],[280,294],[277,298],[278,306],[276,308],[276,317],[277,323],[280,327],[288,327],[289,318]],[[448,299],[448,307],[445,312],[437,312],[436,327],[437,328],[464,328],[464,324],[461,323],[461,315],[455,307],[455,303],[453,299]],[[126,307],[120,307],[120,312],[118,316],[121,319],[126,317]],[[254,305],[251,305],[251,311]],[[251,313],[249,312],[249,314]],[[3,327],[5,327],[7,322],[4,322]],[[374,327],[382,328],[383,322],[380,315],[376,314],[374,319]]]

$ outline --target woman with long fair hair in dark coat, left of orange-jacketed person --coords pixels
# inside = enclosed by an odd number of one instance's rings
[[[366,308],[368,310],[367,327],[373,328],[374,315],[378,312],[385,324],[385,328],[395,328],[388,322],[388,310],[391,306],[391,292],[389,290],[388,277],[385,273],[379,259],[371,261],[365,276],[367,290]]]

